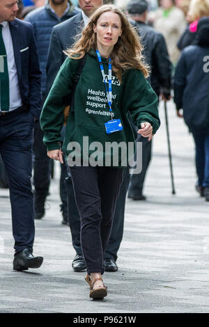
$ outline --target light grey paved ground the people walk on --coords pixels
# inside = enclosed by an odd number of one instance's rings
[[[171,195],[164,111],[146,180],[146,202],[127,200],[117,273],[105,273],[109,296],[88,298],[85,273],[74,273],[68,227],[61,225],[58,174],[47,214],[36,221],[38,270],[12,269],[8,191],[0,189],[0,312],[208,312],[208,206],[194,191],[194,145],[169,104],[176,196]],[[50,207],[50,209],[49,209]]]

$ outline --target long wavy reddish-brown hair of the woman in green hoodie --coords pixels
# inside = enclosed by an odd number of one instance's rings
[[[97,38],[93,26],[97,24],[99,17],[107,11],[116,13],[121,18],[122,34],[111,53],[112,69],[116,73],[116,77],[121,81],[123,72],[130,68],[141,70],[144,77],[148,77],[149,67],[144,63],[144,57],[141,54],[143,47],[139,35],[134,31],[127,17],[114,5],[100,6],[95,10],[79,40],[71,49],[67,49],[65,54],[70,58],[80,59],[90,49],[95,50],[97,48]]]

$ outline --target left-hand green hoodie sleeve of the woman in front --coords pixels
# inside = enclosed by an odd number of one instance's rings
[[[77,60],[67,58],[61,66],[52,88],[47,96],[40,115],[40,127],[44,131],[43,143],[47,150],[60,148],[61,129],[63,127],[63,110],[69,104],[72,84],[77,71]]]

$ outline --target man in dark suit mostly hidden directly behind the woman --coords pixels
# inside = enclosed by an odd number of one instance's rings
[[[82,8],[82,12],[63,23],[54,26],[52,29],[47,59],[47,93],[49,93],[49,90],[52,87],[52,83],[60,66],[65,61],[66,56],[63,54],[63,50],[72,47],[79,32],[81,32],[82,28],[88,24],[88,17],[91,16],[96,7],[101,6],[102,4],[102,0],[79,0],[79,6]],[[134,25],[134,22],[131,23]],[[105,271],[118,270],[116,260],[117,252],[123,238],[125,198],[130,178],[128,171],[129,169],[125,170],[123,175],[124,181],[121,185],[120,195],[116,202],[116,211],[114,214],[114,222],[109,244],[104,253]],[[77,205],[75,203],[70,174],[65,179],[65,185],[68,193],[68,218],[72,234],[72,246],[75,248],[77,253],[75,259],[72,261],[72,269],[74,271],[84,271],[86,269],[86,264],[84,262],[80,243],[80,219]]]

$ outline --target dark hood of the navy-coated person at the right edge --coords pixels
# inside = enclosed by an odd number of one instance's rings
[[[194,39],[195,45],[201,47],[209,47],[209,17],[202,17],[199,19],[196,29],[196,36]]]

